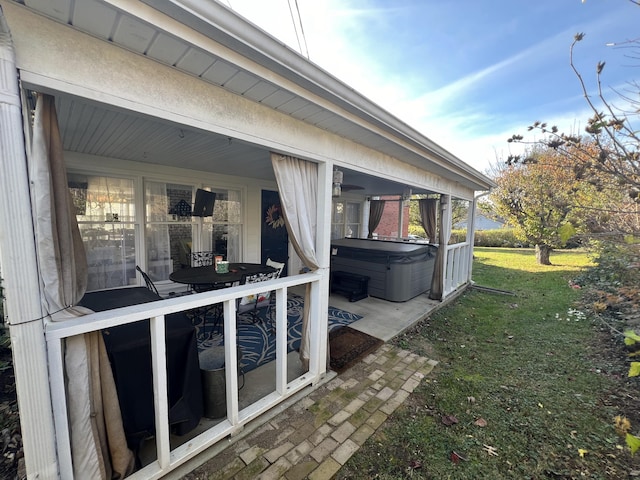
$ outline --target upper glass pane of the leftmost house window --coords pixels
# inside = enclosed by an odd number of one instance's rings
[[[70,174],[68,185],[79,222],[133,222],[133,180]]]

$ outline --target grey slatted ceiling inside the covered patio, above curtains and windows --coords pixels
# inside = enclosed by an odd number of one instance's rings
[[[270,152],[260,145],[64,94],[56,95],[56,109],[66,151],[275,182]],[[345,192],[400,195],[406,188],[384,178],[341,170]],[[415,188],[413,192],[429,193]]]

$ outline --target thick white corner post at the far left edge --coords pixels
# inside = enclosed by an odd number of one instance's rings
[[[0,264],[25,464],[29,478],[58,478],[18,72],[1,10],[0,125]]]

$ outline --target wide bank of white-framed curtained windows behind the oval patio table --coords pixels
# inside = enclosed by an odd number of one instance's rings
[[[196,182],[170,183],[91,174],[68,174],[69,191],[88,262],[87,290],[137,283],[136,264],[153,281],[190,266],[191,251],[213,250],[242,259],[239,190],[213,189],[212,217],[192,217]],[[136,211],[144,206],[143,211]],[[142,250],[139,250],[142,249]]]

